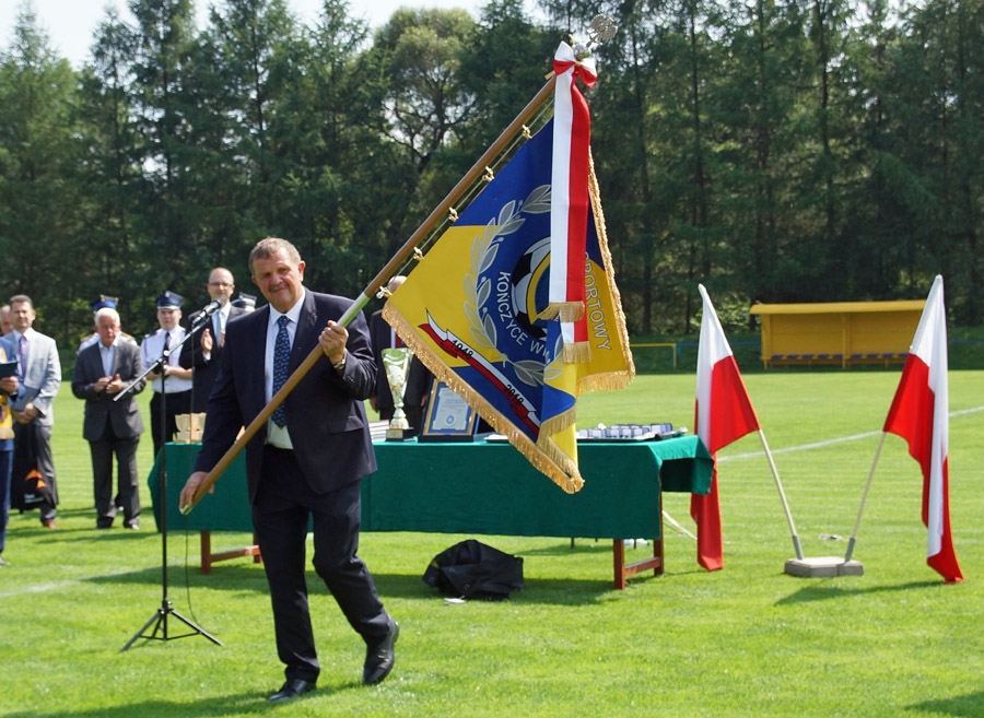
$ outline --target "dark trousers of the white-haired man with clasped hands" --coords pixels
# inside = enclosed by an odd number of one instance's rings
[[[124,521],[130,523],[140,516],[140,479],[137,475],[137,446],[140,437],[117,438],[107,422],[106,433],[97,442],[90,442],[92,454],[92,485],[95,494],[96,522],[112,526],[116,507],[121,506]],[[113,497],[113,457],[116,457],[117,495]]]

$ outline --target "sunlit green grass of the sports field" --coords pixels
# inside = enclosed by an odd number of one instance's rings
[[[898,369],[746,376],[807,556],[843,554],[844,540],[820,535],[850,535],[898,380]],[[628,390],[583,397],[578,423],[692,426],[693,389],[692,374],[641,376]],[[785,575],[793,542],[752,435],[721,455],[725,568],[713,574],[669,526],[666,576],[635,577],[625,591],[611,589],[608,541],[586,537],[572,550],[566,540],[476,537],[524,557],[526,589],[501,603],[446,605],[421,575],[468,537],[364,533],[361,553],[402,626],[393,675],[360,684],[363,648],[311,574],[318,691],[277,706],[266,702],[282,669],[262,569],[243,558],[201,575],[197,535],[169,537],[169,597],[224,645],[140,639],[119,652],[161,607],[161,538],[145,486],[142,531],[95,530],[82,405],[66,385],[55,431],[60,529],[14,514],[4,557],[15,566],[0,569],[0,715],[984,716],[984,372],[951,372],[950,408],[962,584],[945,585],[925,564],[922,479],[893,436],[854,553],[865,575]],[[150,446],[145,437],[144,474]],[[688,506],[686,495],[666,495],[692,530]],[[174,619],[169,629],[184,633]]]

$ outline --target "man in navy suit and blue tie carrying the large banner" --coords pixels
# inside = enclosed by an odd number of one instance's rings
[[[304,579],[308,526],[314,568],[366,644],[363,682],[378,683],[393,669],[399,627],[356,555],[360,480],[376,470],[363,407],[376,376],[365,319],[360,313],[348,327],[337,323],[352,302],[306,290],[305,264],[284,239],[258,243],[249,267],[269,304],[226,329],[201,451],[180,506],[190,506],[208,471],[289,373],[320,350],[325,356],[297,382],[282,412],[273,412],[246,445],[253,525],[270,587],[277,651],[285,664],[286,681],[270,699],[312,691],[320,671]]]

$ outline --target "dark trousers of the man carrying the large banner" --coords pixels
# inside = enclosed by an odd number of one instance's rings
[[[359,481],[316,494],[293,451],[265,447],[253,525],[270,587],[277,654],[288,680],[316,681],[320,671],[304,576],[308,528],[314,532],[315,572],[352,628],[366,643],[389,631],[373,578],[356,555],[361,521]]]

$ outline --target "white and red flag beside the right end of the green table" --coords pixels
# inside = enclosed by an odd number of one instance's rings
[[[698,349],[695,420],[698,436],[714,459],[711,493],[691,494],[690,515],[698,525],[698,563],[707,570],[724,566],[721,505],[717,499],[717,450],[759,429],[759,417],[745,390],[735,355],[711,297],[698,285],[704,301],[701,342]]]

